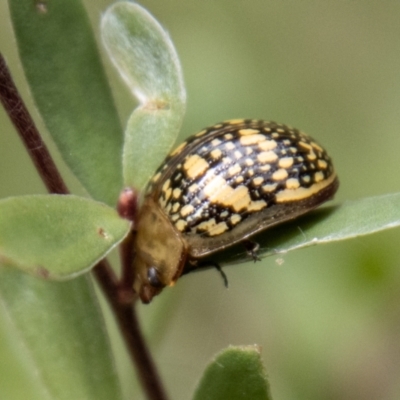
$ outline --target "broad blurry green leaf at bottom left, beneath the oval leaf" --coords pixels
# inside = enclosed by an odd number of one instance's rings
[[[2,398],[122,399],[88,278],[48,282],[0,267],[0,311]]]

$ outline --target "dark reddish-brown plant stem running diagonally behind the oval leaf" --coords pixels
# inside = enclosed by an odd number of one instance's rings
[[[69,190],[14,84],[1,53],[0,100],[8,116],[15,125],[48,192],[53,194],[68,194]],[[141,332],[136,308],[133,306],[136,296],[134,296],[133,293],[131,296],[126,296],[127,288],[124,281],[126,283],[126,279],[133,279],[133,277],[127,273],[128,263],[132,262],[133,253],[129,250],[129,246],[132,246],[132,238],[133,236],[129,235],[128,239],[124,241],[121,246],[121,262],[124,271],[123,275],[125,276],[125,279],[122,279],[122,285],[118,282],[114,271],[105,259],[94,267],[93,273],[114,312],[121,334],[125,340],[131,359],[136,366],[148,399],[166,400],[167,396]],[[132,249],[132,247],[130,247],[130,249]],[[126,277],[126,275],[128,275],[128,277]],[[123,293],[121,295],[120,286],[122,286],[125,294]],[[132,286],[130,290],[133,292]]]

